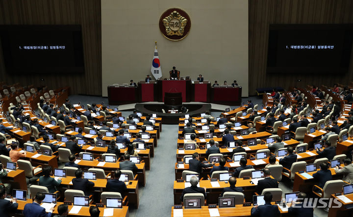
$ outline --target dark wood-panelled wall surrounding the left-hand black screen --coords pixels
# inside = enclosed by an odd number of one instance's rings
[[[0,52],[0,81],[51,89],[71,86],[72,94],[101,95],[101,0],[0,0],[0,25],[77,24],[82,27],[84,74],[11,75]]]

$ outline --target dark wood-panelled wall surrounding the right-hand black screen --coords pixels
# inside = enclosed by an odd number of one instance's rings
[[[352,24],[352,0],[249,0],[249,95],[257,87],[348,84],[353,81],[351,56],[347,74],[267,74],[270,24]],[[301,79],[301,82],[297,80]]]

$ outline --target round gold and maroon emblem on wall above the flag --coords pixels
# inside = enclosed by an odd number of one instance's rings
[[[186,37],[191,27],[189,15],[180,8],[170,8],[159,18],[159,29],[172,41],[178,41]]]

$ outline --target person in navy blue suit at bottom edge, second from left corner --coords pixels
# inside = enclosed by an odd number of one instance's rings
[[[54,208],[50,208],[50,212],[46,213],[45,208],[41,207],[40,204],[44,200],[45,195],[42,192],[37,192],[34,197],[33,203],[27,203],[25,205],[23,215],[25,217],[51,217]]]

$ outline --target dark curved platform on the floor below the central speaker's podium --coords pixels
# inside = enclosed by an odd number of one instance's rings
[[[184,117],[185,114],[190,114],[191,117],[200,116],[202,112],[206,110],[211,110],[211,104],[186,104],[188,110],[187,113],[164,113],[162,109],[168,112],[169,107],[166,107],[164,104],[149,104],[149,103],[137,103],[135,109],[142,113],[155,113],[158,117],[162,118],[163,124],[178,124],[179,118]]]

